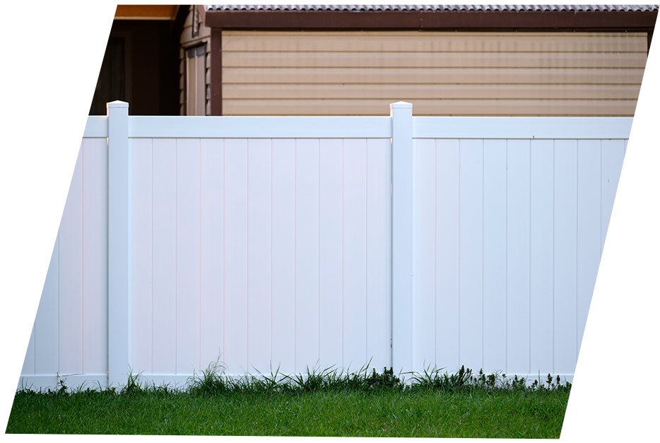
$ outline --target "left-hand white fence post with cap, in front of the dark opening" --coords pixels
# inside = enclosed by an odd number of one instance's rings
[[[123,386],[129,373],[129,104],[107,103],[107,381]]]

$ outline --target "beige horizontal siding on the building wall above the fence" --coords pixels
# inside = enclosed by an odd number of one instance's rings
[[[223,114],[647,112],[645,33],[223,33]]]

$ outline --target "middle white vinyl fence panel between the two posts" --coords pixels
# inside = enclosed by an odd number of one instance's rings
[[[131,138],[134,372],[391,365],[389,140],[189,132]]]

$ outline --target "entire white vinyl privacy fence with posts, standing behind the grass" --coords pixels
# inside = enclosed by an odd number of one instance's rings
[[[5,387],[660,376],[651,118],[5,117]]]

